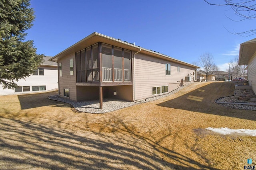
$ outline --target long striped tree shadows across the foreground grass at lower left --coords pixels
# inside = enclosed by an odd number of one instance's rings
[[[138,136],[68,131],[5,118],[0,118],[0,134],[0,169],[217,170]]]

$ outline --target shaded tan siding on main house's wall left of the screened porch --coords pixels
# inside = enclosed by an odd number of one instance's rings
[[[70,59],[73,59],[74,75],[70,75]],[[64,97],[64,88],[69,88],[70,100],[76,99],[76,57],[75,53],[58,61],[62,63],[62,76],[59,77],[60,96]]]

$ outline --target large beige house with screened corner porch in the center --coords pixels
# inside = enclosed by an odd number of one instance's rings
[[[50,61],[58,62],[59,95],[74,101],[127,101],[166,94],[198,66],[120,39],[92,33]]]

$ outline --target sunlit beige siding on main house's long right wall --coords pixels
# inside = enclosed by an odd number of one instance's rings
[[[166,75],[165,64],[171,64],[171,75]],[[173,63],[156,57],[151,57],[138,53],[134,59],[134,99],[140,100],[152,96],[152,87],[168,86],[168,92],[176,89],[180,85],[180,80],[185,76],[191,75],[193,81],[193,72],[195,68],[185,66],[178,63]],[[178,72],[177,66],[180,66]]]

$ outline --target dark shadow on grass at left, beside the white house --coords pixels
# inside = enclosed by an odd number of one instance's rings
[[[70,104],[48,99],[48,96],[54,95],[58,95],[58,91],[36,94],[21,94],[18,95],[18,99],[20,101],[21,109],[31,109],[42,106],[70,107]]]

